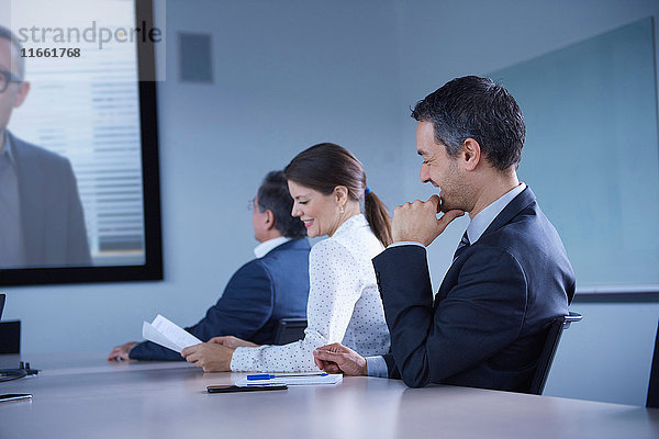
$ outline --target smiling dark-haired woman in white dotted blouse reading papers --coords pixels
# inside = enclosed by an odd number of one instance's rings
[[[204,372],[314,371],[313,350],[342,341],[365,356],[389,351],[371,259],[391,241],[384,205],[366,184],[366,172],[347,149],[319,144],[284,168],[293,196],[292,215],[310,237],[327,236],[309,256],[308,327],[304,339],[284,346],[255,346],[217,337],[182,351]]]

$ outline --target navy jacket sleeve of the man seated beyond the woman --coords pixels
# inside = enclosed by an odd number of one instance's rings
[[[209,308],[205,317],[186,330],[202,341],[228,335],[252,340],[272,314],[273,294],[269,272],[258,260],[250,261],[234,273],[222,297]],[[178,352],[150,341],[135,346],[130,357],[135,360],[182,360]]]

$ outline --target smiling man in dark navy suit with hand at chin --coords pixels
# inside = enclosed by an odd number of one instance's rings
[[[550,322],[568,313],[574,274],[554,226],[517,180],[524,119],[490,79],[449,81],[418,102],[421,180],[439,195],[398,206],[393,240],[373,259],[391,353],[364,359],[340,345],[321,369],[525,392]],[[444,215],[437,219],[437,212]],[[433,300],[425,246],[465,212],[470,224]]]

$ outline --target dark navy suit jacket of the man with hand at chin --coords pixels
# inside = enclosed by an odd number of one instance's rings
[[[546,328],[568,313],[574,273],[526,188],[449,268],[433,302],[426,252],[392,247],[373,259],[392,353],[389,375],[525,392]]]

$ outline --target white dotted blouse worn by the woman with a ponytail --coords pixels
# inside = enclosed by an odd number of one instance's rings
[[[317,371],[313,350],[332,342],[362,356],[389,351],[389,329],[371,259],[383,247],[362,214],[316,243],[309,255],[308,327],[304,339],[284,346],[237,348],[232,371]]]

